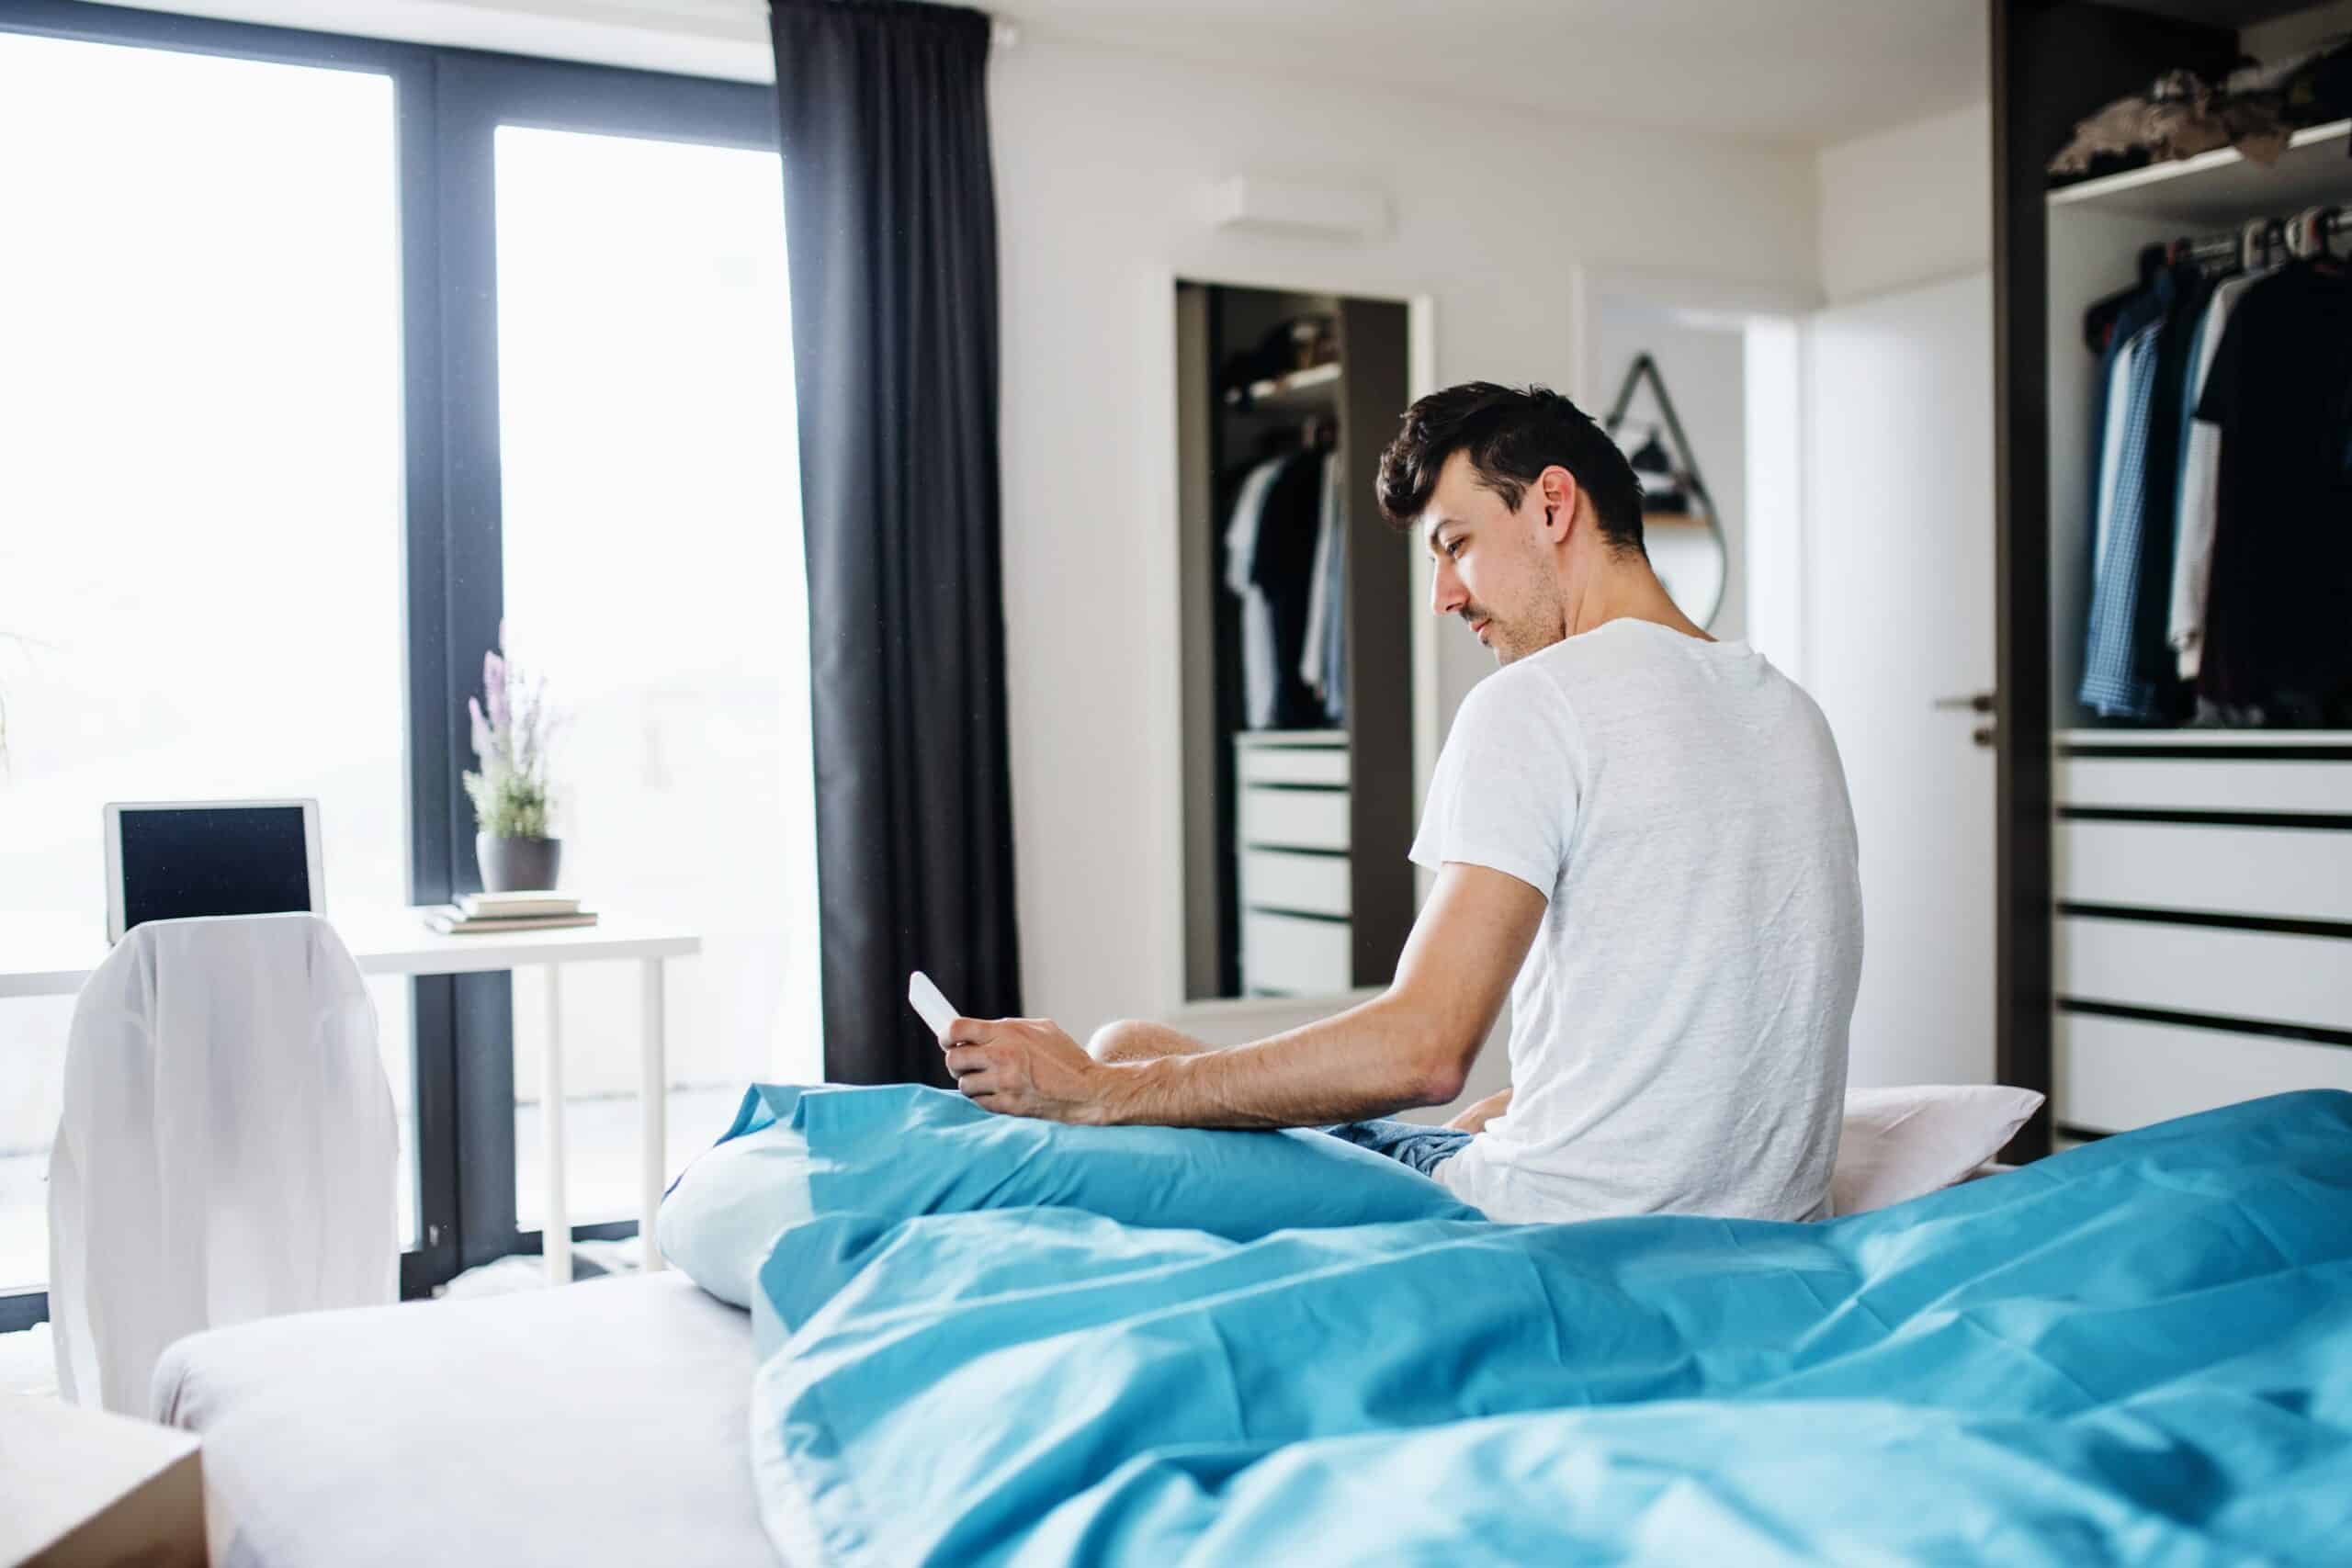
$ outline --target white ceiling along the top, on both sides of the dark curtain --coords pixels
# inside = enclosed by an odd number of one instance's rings
[[[129,0],[764,78],[764,0]],[[1583,125],[1820,146],[1985,96],[1985,0],[978,0],[1023,38]],[[2206,0],[2211,2],[2211,0]],[[2249,5],[2258,0],[2246,0]]]

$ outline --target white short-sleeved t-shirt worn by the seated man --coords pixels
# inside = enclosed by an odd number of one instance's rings
[[[1482,679],[1414,860],[1550,907],[1510,990],[1510,1112],[1437,1178],[1494,1220],[1813,1220],[1863,891],[1837,743],[1743,642],[1606,621]]]

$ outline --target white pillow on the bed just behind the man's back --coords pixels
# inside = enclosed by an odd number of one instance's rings
[[[1950,1187],[1999,1154],[2039,1107],[2039,1093],[2006,1084],[1849,1088],[1830,1213],[1865,1213]]]

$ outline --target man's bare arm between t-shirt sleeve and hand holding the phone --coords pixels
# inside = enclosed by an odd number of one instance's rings
[[[1449,863],[1383,994],[1249,1046],[1117,1065],[1087,1119],[1317,1126],[1444,1105],[1461,1095],[1543,907],[1517,877]]]

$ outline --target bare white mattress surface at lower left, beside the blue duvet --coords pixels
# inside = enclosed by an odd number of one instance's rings
[[[743,1568],[750,1371],[750,1314],[663,1272],[200,1333],[155,1413],[226,1568]]]

